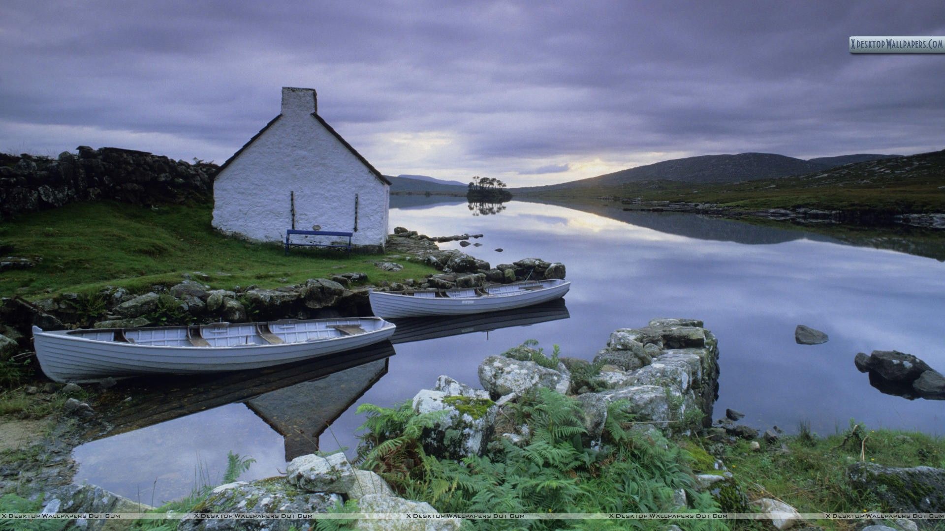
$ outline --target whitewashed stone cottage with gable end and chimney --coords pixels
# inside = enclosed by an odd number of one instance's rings
[[[286,229],[353,232],[384,246],[390,181],[318,116],[314,89],[283,87],[282,113],[214,181],[216,229],[278,242]],[[323,238],[323,242],[330,237]]]

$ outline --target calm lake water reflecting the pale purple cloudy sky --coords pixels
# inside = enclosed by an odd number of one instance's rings
[[[440,374],[479,386],[476,369],[483,358],[526,339],[539,340],[547,351],[557,344],[562,355],[591,359],[611,331],[641,327],[654,317],[699,318],[718,337],[714,418],[731,407],[761,429],[777,424],[796,431],[800,420],[809,420],[814,431],[827,434],[855,418],[870,427],[945,434],[945,402],[883,394],[853,366],[856,352],[898,350],[945,369],[945,264],[935,258],[856,247],[801,229],[625,212],[614,203],[578,210],[511,201],[499,214],[472,215],[465,202],[410,197],[410,204],[398,207],[398,197],[391,199],[391,228],[431,235],[481,232],[483,238],[471,241],[483,246],[464,250],[492,265],[527,257],[564,263],[572,282],[566,310],[503,317],[500,324],[532,324],[488,333],[476,330],[494,323],[447,322],[428,335],[470,331],[422,340],[414,340],[422,330],[411,332],[393,345],[396,355],[387,361],[348,369],[321,384],[288,387],[249,404],[207,406],[95,440],[76,449],[76,480],[159,503],[187,494],[195,476],[218,480],[230,451],[257,460],[244,479],[284,471],[286,454],[306,444],[323,451],[340,445],[352,454],[354,432],[364,420],[354,413],[359,403],[402,403],[432,387]],[[925,249],[932,256],[945,251]],[[830,334],[830,341],[796,344],[798,324]],[[390,346],[385,349],[389,353]],[[274,404],[282,410],[273,412]],[[328,430],[313,428],[328,421]],[[293,427],[285,429],[286,423]],[[274,427],[294,430],[294,440],[283,439]]]

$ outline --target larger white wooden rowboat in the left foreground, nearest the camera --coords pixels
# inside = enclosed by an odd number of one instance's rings
[[[55,332],[34,326],[33,342],[46,376],[82,383],[282,365],[384,341],[395,328],[378,317]]]

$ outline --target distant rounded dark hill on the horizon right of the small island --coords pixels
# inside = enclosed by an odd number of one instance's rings
[[[541,193],[585,187],[617,186],[631,182],[676,180],[694,183],[740,182],[802,175],[822,171],[837,165],[885,159],[896,155],[843,155],[812,161],[795,159],[774,153],[739,153],[738,155],[701,155],[646,164],[618,172],[573,180],[550,186],[516,188],[515,193]]]

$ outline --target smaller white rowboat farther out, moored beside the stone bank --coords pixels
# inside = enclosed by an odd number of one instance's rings
[[[496,284],[484,288],[374,291],[369,293],[375,316],[462,316],[524,308],[559,299],[571,283],[558,279]]]

